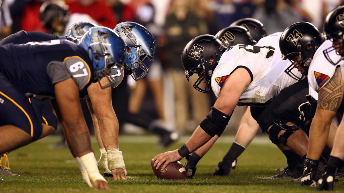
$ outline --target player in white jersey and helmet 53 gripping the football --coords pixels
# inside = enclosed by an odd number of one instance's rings
[[[236,105],[266,106],[281,89],[297,82],[284,73],[291,63],[283,61],[280,55],[278,46],[236,45],[225,52],[224,46],[211,35],[190,41],[182,54],[186,77],[197,73],[199,78],[194,87],[206,92],[210,90],[208,84],[212,79],[212,88],[218,98],[185,145],[155,156],[154,167],[164,169],[210,139],[215,141],[218,137],[215,135],[221,135]],[[296,69],[294,71],[297,73]],[[198,87],[202,81],[207,83],[205,89]]]

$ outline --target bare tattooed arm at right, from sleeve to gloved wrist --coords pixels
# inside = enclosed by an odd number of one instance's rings
[[[307,158],[319,160],[329,136],[332,118],[342,102],[343,91],[342,73],[340,68],[336,68],[333,77],[319,90],[318,106],[309,131]]]

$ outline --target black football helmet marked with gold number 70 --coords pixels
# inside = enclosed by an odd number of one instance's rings
[[[215,36],[227,47],[237,44],[255,45],[257,43],[245,27],[238,25],[225,27],[218,31]]]

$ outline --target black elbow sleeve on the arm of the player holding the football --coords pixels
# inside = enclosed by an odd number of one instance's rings
[[[209,114],[200,123],[201,128],[210,136],[220,136],[226,128],[231,115],[226,115],[212,106]]]

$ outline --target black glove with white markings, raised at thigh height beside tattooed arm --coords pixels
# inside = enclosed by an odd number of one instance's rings
[[[300,104],[299,111],[300,111],[300,120],[307,122],[312,121],[315,111],[316,111],[316,105],[318,105],[318,102],[309,94],[306,95],[307,102]]]

